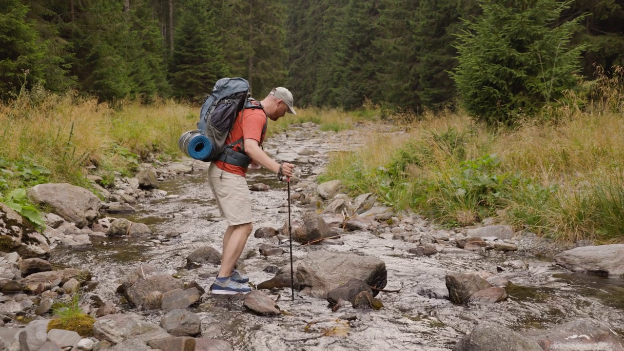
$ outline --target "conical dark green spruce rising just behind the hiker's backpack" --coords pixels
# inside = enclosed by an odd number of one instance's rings
[[[218,21],[215,7],[205,0],[187,0],[181,7],[170,71],[173,95],[202,101],[229,74],[215,29]]]

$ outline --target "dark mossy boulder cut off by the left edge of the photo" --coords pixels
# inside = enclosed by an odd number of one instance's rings
[[[22,259],[48,257],[50,245],[20,214],[0,203],[0,251],[17,252]]]

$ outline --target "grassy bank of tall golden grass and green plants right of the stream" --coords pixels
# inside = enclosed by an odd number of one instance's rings
[[[565,243],[623,242],[624,114],[492,130],[426,116],[334,154],[321,180],[447,225],[509,224]]]

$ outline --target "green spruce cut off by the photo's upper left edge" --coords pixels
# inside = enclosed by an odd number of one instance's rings
[[[16,97],[22,88],[45,82],[46,48],[35,22],[27,20],[29,7],[19,0],[0,0],[0,99]]]

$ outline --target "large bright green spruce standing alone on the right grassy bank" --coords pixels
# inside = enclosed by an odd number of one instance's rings
[[[480,1],[483,14],[457,46],[453,78],[467,112],[490,124],[535,116],[577,84],[582,47],[568,47],[574,21],[552,28],[557,0]]]

